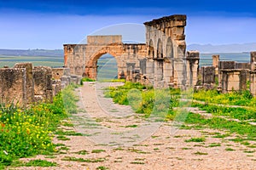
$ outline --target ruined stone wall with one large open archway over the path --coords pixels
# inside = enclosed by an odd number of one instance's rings
[[[72,75],[96,79],[97,59],[103,54],[111,54],[116,59],[118,77],[121,78],[140,70],[140,60],[145,58],[146,45],[122,43],[121,36],[89,36],[87,44],[64,44],[64,51],[65,67],[70,68]]]

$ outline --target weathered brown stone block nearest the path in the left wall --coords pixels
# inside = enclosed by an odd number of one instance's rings
[[[52,101],[52,70],[47,66],[38,66],[33,69],[35,100]]]

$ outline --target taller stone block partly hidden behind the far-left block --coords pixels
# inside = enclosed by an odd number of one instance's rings
[[[26,102],[27,104],[32,104],[35,101],[32,63],[17,63],[14,68],[26,69]]]

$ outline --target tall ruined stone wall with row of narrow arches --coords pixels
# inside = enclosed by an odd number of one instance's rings
[[[155,86],[164,83],[183,88],[187,82],[186,15],[171,15],[145,22],[147,75]]]

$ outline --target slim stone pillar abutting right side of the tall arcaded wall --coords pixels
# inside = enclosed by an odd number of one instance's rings
[[[200,57],[198,51],[187,52],[187,84],[189,87],[194,87],[197,82],[197,76],[199,71],[199,59]]]

